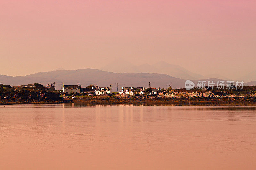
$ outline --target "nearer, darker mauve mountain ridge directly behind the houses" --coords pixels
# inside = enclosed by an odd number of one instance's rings
[[[203,80],[203,79],[201,79]],[[214,80],[216,82],[220,79],[204,79],[206,81]],[[5,76],[0,75],[0,83],[6,85],[26,85],[33,83],[41,83],[47,85],[47,83],[55,82],[56,89],[60,90],[61,85],[82,85],[86,87],[88,85],[109,86],[113,88],[113,92],[117,89],[120,90],[124,87],[149,87],[152,88],[166,88],[169,84],[172,84],[173,88],[184,88],[185,79],[175,78],[167,74],[159,73],[113,73],[108,71],[102,71],[98,69],[78,69],[78,70],[58,70],[49,72],[40,72],[30,74],[27,76]],[[194,81],[196,82],[196,80]],[[195,83],[196,84],[196,83]],[[256,81],[249,82],[245,85],[255,85]]]

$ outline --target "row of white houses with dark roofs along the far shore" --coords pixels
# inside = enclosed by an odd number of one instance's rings
[[[145,94],[145,87],[122,87],[121,91],[118,92],[118,95],[120,96],[132,96],[135,94],[144,95]],[[160,87],[159,88],[151,88],[150,94],[159,94],[161,92]],[[90,85],[86,88],[82,88],[81,85],[78,83],[78,85],[62,85],[61,92],[64,94],[96,94],[96,95],[103,95],[103,94],[112,94],[112,88],[111,85],[109,87],[96,87],[94,85]]]

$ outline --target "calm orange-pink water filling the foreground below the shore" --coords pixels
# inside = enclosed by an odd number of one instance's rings
[[[0,105],[0,169],[255,169],[256,107]]]

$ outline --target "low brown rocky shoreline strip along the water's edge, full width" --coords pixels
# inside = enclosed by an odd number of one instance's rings
[[[253,105],[255,96],[225,96],[225,97],[188,97],[188,96],[62,96],[60,99],[1,99],[0,104],[44,104],[44,103],[151,103],[173,105]]]

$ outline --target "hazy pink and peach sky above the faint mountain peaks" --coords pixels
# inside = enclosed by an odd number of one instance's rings
[[[0,1],[0,74],[164,60],[229,78],[255,71],[256,1]]]

